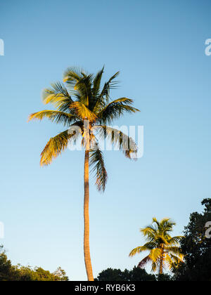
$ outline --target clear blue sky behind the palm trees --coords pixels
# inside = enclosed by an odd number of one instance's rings
[[[1,1],[0,242],[13,263],[60,265],[71,280],[86,280],[84,156],[68,150],[40,168],[41,149],[63,126],[27,123],[46,108],[41,90],[71,65],[106,65],[106,78],[120,70],[113,98],[133,98],[141,113],[116,123],[145,129],[143,158],[106,152],[106,192],[91,185],[94,276],[140,261],[128,254],[153,216],[173,218],[177,235],[201,210],[211,196],[210,10],[210,0]]]

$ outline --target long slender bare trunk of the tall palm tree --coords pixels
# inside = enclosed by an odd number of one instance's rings
[[[84,159],[84,261],[89,281],[94,281],[89,249],[89,150]]]

